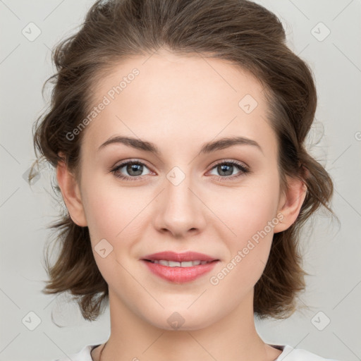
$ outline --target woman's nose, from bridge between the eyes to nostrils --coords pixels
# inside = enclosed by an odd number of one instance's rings
[[[178,181],[179,181],[179,174]],[[190,176],[178,183],[174,178],[167,177],[164,190],[157,197],[154,227],[161,233],[171,233],[174,238],[186,238],[200,233],[207,224],[207,207],[202,200],[201,192],[197,191]],[[203,196],[204,197],[204,196]]]

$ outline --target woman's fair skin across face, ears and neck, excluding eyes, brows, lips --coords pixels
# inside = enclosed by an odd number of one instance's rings
[[[263,87],[224,60],[161,49],[115,66],[97,84],[94,104],[133,68],[140,74],[83,130],[80,179],[63,162],[57,168],[71,218],[89,228],[94,259],[109,285],[111,336],[102,360],[275,360],[281,351],[255,329],[253,290],[273,234],[293,224],[305,186],[288,178],[288,190],[280,191],[278,145]],[[250,114],[238,106],[245,94],[258,103]],[[120,143],[98,150],[114,135],[152,142],[160,155]],[[205,142],[235,135],[255,140],[262,150],[235,145],[199,154]],[[111,173],[130,159],[145,164],[141,178],[125,181]],[[224,160],[251,172],[234,166],[232,174],[240,176],[231,180],[217,170]],[[178,185],[166,177],[174,166],[185,175]],[[118,173],[134,174],[126,167]],[[212,285],[210,276],[279,212],[282,221]],[[94,247],[104,238],[113,250],[103,258]],[[195,281],[171,283],[140,261],[163,250],[202,252],[220,262]],[[184,319],[179,329],[167,322],[173,312]],[[103,346],[93,350],[93,360]]]

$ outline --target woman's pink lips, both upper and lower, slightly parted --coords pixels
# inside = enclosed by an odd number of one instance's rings
[[[162,264],[149,262],[150,260],[159,260],[166,259],[168,261],[174,262],[187,262],[187,261],[207,261],[207,264],[199,264],[198,266],[192,267],[169,267],[163,266]],[[203,274],[211,271],[219,259],[214,259],[208,255],[204,255],[198,252],[184,252],[184,253],[176,253],[176,252],[159,252],[154,253],[153,255],[147,255],[142,259],[148,269],[152,271],[153,274],[161,277],[161,279],[165,279],[166,281],[171,281],[175,283],[185,283],[190,282]]]

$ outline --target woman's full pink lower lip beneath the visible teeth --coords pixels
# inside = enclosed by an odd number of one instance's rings
[[[193,281],[203,274],[207,274],[219,261],[199,264],[198,266],[192,267],[169,267],[145,260],[142,260],[142,262],[145,262],[149,270],[152,271],[153,274],[161,277],[161,279],[166,279],[167,281],[175,283],[185,283]]]

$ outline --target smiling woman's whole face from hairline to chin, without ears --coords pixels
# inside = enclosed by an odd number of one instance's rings
[[[162,329],[200,329],[252,304],[283,202],[262,85],[220,59],[164,51],[120,63],[94,106],[80,195],[111,305]],[[104,145],[114,137],[131,141]]]

